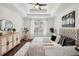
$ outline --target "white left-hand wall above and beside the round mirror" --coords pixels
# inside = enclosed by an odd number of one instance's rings
[[[22,18],[19,14],[3,5],[0,5],[0,20],[1,19],[12,21],[14,28],[16,28],[16,31],[20,33],[21,37],[23,24],[22,24]]]

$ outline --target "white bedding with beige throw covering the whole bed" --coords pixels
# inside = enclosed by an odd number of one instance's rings
[[[25,51],[23,55],[25,56],[72,56],[72,55],[76,56],[76,55],[79,55],[79,52],[75,50],[75,46],[62,47],[56,42],[51,41],[50,37],[36,37],[29,44],[29,48],[27,49],[27,51]]]

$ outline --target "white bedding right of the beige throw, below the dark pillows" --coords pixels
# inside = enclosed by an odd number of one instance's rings
[[[65,47],[44,47],[46,56],[77,56],[79,52],[75,50],[75,46]]]

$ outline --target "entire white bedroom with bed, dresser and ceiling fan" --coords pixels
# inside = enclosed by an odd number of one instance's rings
[[[79,56],[79,3],[0,3],[0,56]]]

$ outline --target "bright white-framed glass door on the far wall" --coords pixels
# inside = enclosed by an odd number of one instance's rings
[[[31,22],[31,33],[34,36],[45,36],[46,32],[46,21],[45,20],[32,20]]]

